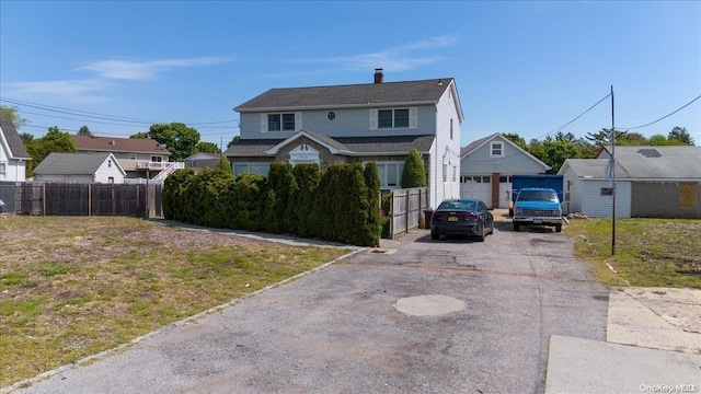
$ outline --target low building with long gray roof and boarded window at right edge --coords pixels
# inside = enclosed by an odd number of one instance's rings
[[[616,147],[617,218],[701,219],[701,147]],[[565,213],[611,217],[610,153],[567,159]]]

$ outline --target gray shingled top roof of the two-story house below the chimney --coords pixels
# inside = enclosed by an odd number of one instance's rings
[[[435,104],[449,88],[455,89],[452,78],[332,86],[278,88],[271,89],[233,109],[258,112],[320,107],[369,107],[399,103]],[[461,111],[460,114],[462,115]]]

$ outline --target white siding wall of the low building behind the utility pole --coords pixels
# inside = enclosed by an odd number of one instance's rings
[[[601,196],[602,187],[610,187],[607,179],[582,179],[582,211],[590,218],[610,218],[612,196]],[[631,183],[616,182],[616,217],[631,217]]]

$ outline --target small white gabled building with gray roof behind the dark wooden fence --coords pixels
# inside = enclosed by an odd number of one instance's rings
[[[126,173],[112,153],[49,153],[34,169],[34,179],[123,184]]]

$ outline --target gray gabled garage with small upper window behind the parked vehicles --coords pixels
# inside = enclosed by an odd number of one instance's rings
[[[493,134],[460,150],[460,197],[508,208],[512,175],[544,174],[548,170],[548,164],[499,132]]]

